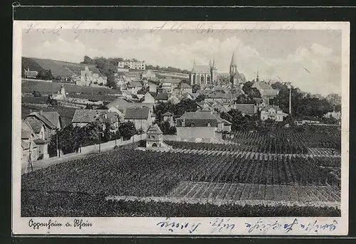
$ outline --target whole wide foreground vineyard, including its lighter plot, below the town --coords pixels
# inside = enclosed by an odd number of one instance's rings
[[[49,193],[47,197],[53,196],[51,201],[59,206],[61,193],[286,200],[296,205],[301,200],[340,201],[340,158],[246,155],[114,149],[25,174],[22,191],[23,196]],[[182,185],[187,182],[191,183]],[[290,196],[288,189],[294,189],[296,195]],[[253,195],[255,192],[258,197]],[[305,194],[309,197],[303,197]],[[31,206],[42,199],[33,201],[28,196],[22,203],[31,212],[36,208]],[[23,215],[27,216],[28,211]]]

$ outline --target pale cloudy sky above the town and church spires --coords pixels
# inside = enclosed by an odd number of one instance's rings
[[[44,33],[43,33],[44,32]],[[79,63],[91,58],[136,58],[159,66],[192,70],[215,60],[229,72],[235,53],[237,70],[247,80],[289,81],[305,92],[341,94],[341,31],[337,30],[114,30],[110,33],[62,30],[23,31],[22,56]]]

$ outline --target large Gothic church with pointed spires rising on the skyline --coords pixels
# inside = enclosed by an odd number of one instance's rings
[[[192,72],[190,74],[190,84],[191,85],[218,85],[219,74],[218,69],[215,65],[215,60],[209,65],[197,65],[194,60]],[[231,64],[229,66],[229,83],[230,85],[239,85],[246,82],[244,74],[237,71],[237,65],[234,53],[232,53]],[[224,76],[224,75],[223,75]]]

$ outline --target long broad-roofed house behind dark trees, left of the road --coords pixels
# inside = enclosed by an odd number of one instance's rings
[[[106,129],[106,124],[110,124],[110,131],[116,132],[119,124],[123,122],[117,112],[110,112],[108,110],[75,110],[72,119],[73,126],[85,127],[92,122],[99,122],[102,129]]]

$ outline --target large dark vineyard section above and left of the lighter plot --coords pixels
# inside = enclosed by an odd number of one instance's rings
[[[166,196],[180,181],[339,187],[340,163],[320,163],[313,158],[261,160],[114,149],[23,174],[21,183],[26,190],[106,196]]]

